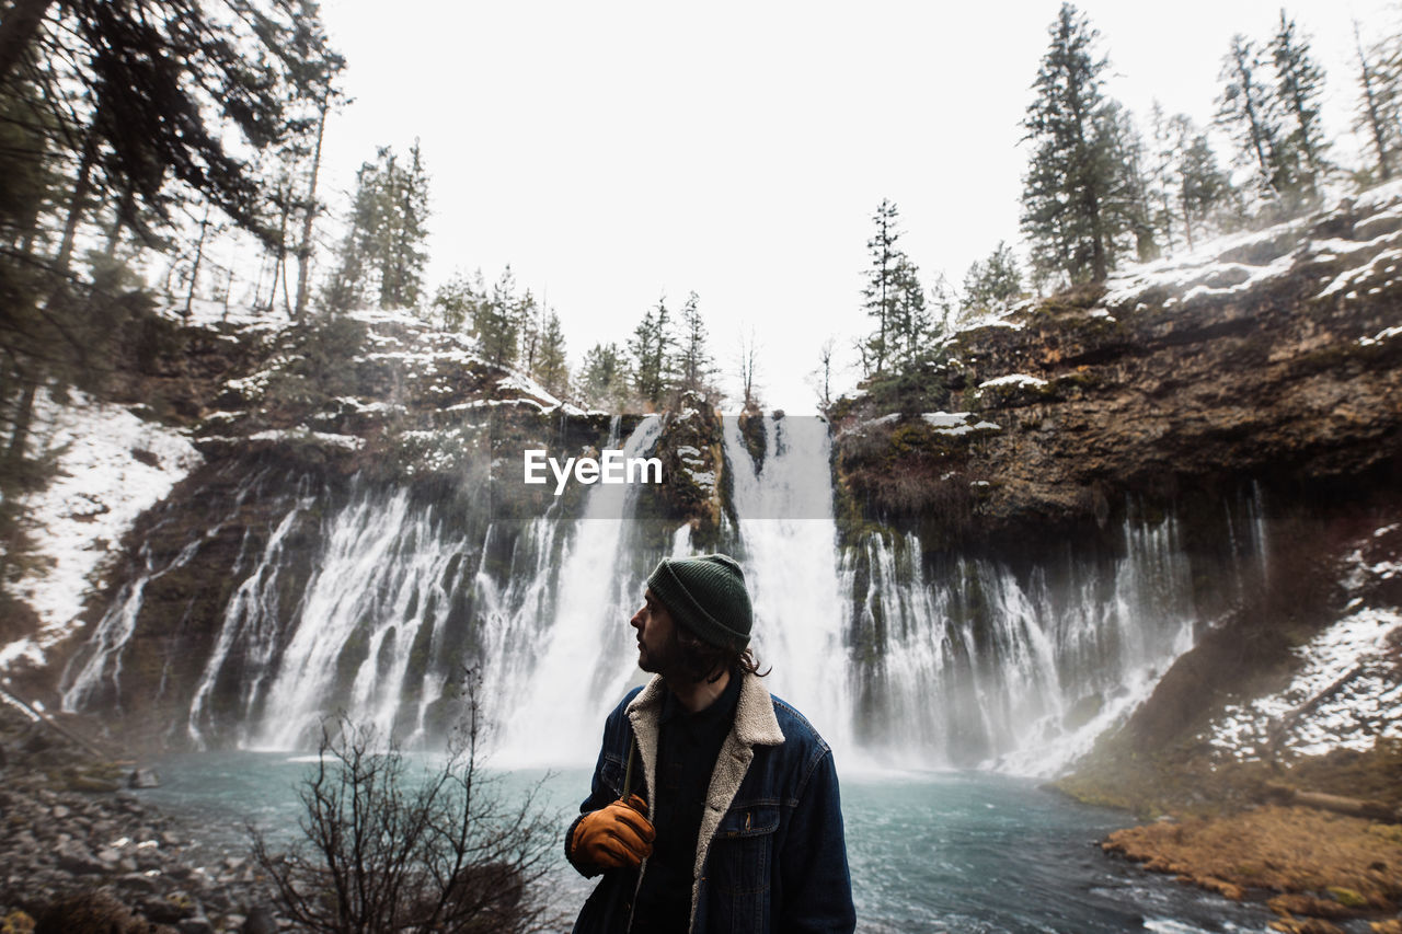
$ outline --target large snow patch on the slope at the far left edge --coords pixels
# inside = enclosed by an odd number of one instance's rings
[[[76,391],[67,404],[36,400],[34,443],[55,454],[57,474],[25,502],[21,522],[35,547],[15,595],[39,614],[41,631],[0,649],[0,669],[18,658],[42,663],[100,586],[102,560],[203,460],[182,433]]]

